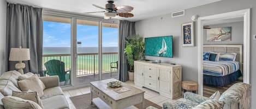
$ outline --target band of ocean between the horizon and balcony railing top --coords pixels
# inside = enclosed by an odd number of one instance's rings
[[[103,53],[118,52],[118,47],[103,47]],[[70,54],[70,47],[43,47],[43,54]],[[78,47],[78,53],[98,53],[98,47]]]

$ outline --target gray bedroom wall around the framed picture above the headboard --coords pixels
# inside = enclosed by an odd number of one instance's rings
[[[204,29],[204,44],[243,44],[243,22],[215,24],[210,27],[232,27],[231,41],[209,42],[207,41],[207,30]]]

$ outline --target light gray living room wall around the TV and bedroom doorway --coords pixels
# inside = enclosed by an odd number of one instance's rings
[[[193,15],[200,17],[221,14],[251,8],[251,39],[256,34],[256,1],[255,0],[223,0],[216,3],[187,9],[185,16],[171,18],[171,14],[148,18],[135,23],[136,33],[145,37],[149,36],[174,36],[174,58],[160,58],[147,56],[147,59],[160,59],[165,62],[175,62],[182,65],[182,79],[198,81],[198,25],[194,24],[195,46],[182,47],[181,24],[191,22]],[[163,19],[161,20],[161,17]],[[251,40],[251,84],[252,92],[256,92],[256,40]],[[256,101],[256,93],[252,93],[252,101]],[[256,104],[252,104],[256,108]]]

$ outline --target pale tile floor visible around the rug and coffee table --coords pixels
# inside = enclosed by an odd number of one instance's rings
[[[172,101],[172,99],[169,99],[162,95],[159,95],[159,93],[151,91],[150,89],[135,86],[133,81],[127,81],[126,83],[129,85],[132,85],[136,88],[144,90],[145,91],[144,98],[154,102],[155,104],[158,104],[159,106],[162,106],[163,103],[166,101]],[[70,109],[75,109],[75,106],[73,105],[73,103],[69,99],[69,97],[73,97],[73,96],[81,95],[81,94],[87,94],[87,93],[90,93],[90,87],[82,87],[82,88],[78,88],[78,89],[64,91],[64,95],[66,96],[66,99],[68,101]],[[129,107],[129,109],[136,109],[136,107],[131,106],[131,107]]]

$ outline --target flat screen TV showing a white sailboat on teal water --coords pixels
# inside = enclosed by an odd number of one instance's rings
[[[172,55],[172,36],[146,37],[145,55],[173,57]]]

